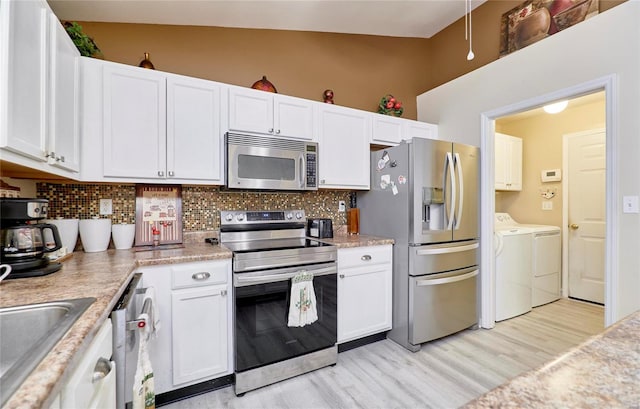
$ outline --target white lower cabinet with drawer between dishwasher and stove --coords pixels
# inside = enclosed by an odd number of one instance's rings
[[[140,267],[160,329],[149,341],[156,394],[233,372],[231,260]]]

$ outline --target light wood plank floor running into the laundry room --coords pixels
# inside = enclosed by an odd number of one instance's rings
[[[561,299],[491,330],[465,330],[411,353],[390,340],[243,397],[233,387],[164,406],[191,408],[457,408],[604,328],[604,309]]]

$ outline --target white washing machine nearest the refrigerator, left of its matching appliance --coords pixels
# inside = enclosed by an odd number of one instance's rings
[[[531,311],[532,230],[520,226],[494,228],[496,321]]]

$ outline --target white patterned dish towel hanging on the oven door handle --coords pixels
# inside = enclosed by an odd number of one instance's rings
[[[316,293],[313,290],[313,274],[302,271],[291,279],[289,326],[304,327],[318,320]]]

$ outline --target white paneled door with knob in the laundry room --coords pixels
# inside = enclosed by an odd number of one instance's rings
[[[604,130],[567,135],[569,296],[604,304]]]

